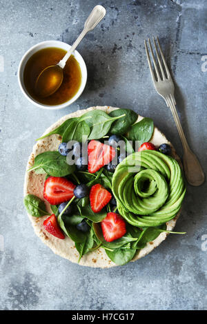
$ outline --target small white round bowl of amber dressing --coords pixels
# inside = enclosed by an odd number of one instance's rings
[[[75,50],[63,68],[63,82],[49,97],[39,97],[35,92],[35,82],[41,71],[59,63],[70,45],[62,41],[43,41],[32,46],[23,55],[18,69],[18,81],[25,97],[43,109],[61,109],[74,103],[83,92],[87,81],[87,69],[81,54]]]

